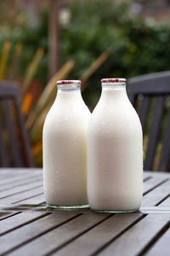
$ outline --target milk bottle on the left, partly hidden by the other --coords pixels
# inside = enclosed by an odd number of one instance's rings
[[[87,207],[87,130],[90,112],[80,80],[58,81],[43,126],[43,188],[48,206]]]

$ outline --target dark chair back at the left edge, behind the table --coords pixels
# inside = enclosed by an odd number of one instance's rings
[[[13,82],[0,82],[0,166],[32,167],[31,146],[20,113],[20,89]]]

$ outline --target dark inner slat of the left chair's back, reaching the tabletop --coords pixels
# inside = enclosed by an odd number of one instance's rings
[[[20,157],[20,152],[18,150],[19,147],[17,145],[17,140],[15,137],[14,120],[12,119],[12,115],[8,104],[9,102],[7,100],[2,100],[4,119],[8,129],[9,143],[11,145],[11,159],[13,160],[14,166],[20,167],[22,166],[22,160]]]

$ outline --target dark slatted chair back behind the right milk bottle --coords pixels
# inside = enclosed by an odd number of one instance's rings
[[[127,94],[144,133],[144,170],[170,171],[170,72],[128,80]]]

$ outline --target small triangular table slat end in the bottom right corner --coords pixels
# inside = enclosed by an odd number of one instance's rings
[[[170,229],[161,236],[161,238],[156,241],[156,243],[151,247],[148,253],[145,253],[146,256],[169,256],[170,248],[169,248],[169,241],[170,241]]]

